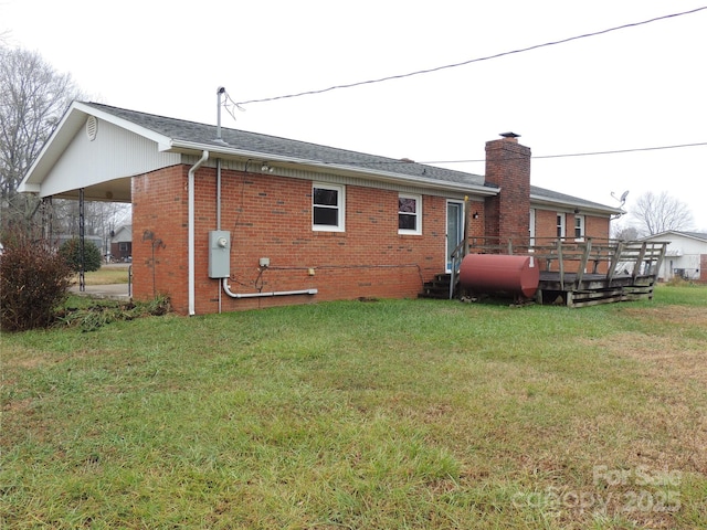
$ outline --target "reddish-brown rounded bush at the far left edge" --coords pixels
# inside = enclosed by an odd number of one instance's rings
[[[0,328],[49,327],[68,294],[72,269],[46,242],[12,234],[0,255]]]

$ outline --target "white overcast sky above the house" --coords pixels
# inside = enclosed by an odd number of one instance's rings
[[[466,63],[707,0],[0,0],[0,32],[92,100],[215,124],[235,102]],[[685,202],[707,232],[707,9],[381,83],[244,105],[225,127],[419,162],[521,135],[532,183],[609,205]],[[483,162],[437,163],[484,173]]]

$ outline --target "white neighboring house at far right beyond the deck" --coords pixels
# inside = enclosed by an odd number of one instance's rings
[[[695,282],[707,282],[707,233],[668,230],[639,241],[669,242],[658,279],[674,276]]]

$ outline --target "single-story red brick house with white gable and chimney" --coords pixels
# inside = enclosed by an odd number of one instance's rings
[[[134,297],[182,314],[414,297],[466,220],[527,244],[606,239],[622,213],[531,187],[530,149],[502,136],[479,176],[75,102],[20,191],[131,202]]]

